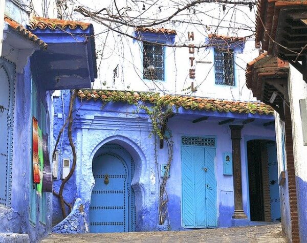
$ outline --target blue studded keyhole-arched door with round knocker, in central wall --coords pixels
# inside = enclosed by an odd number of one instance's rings
[[[93,159],[95,186],[90,205],[90,232],[135,230],[135,195],[131,187],[135,164],[122,146],[103,145]]]

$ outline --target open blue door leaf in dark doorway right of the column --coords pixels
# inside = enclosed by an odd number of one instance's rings
[[[270,184],[271,221],[274,222],[281,217],[276,143],[268,143],[267,150]]]

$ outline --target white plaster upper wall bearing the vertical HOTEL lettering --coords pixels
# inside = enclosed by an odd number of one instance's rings
[[[55,1],[48,2],[48,17],[56,17]],[[132,1],[116,1],[118,8],[126,7]],[[41,1],[34,0],[34,9],[39,15],[42,15]],[[173,1],[160,1],[150,9],[146,4],[146,11],[142,10],[142,3],[139,3],[139,9],[136,5],[131,5],[133,10],[127,11],[131,16],[149,17],[151,19],[159,19],[163,16],[169,16],[177,9],[174,9]],[[78,5],[90,7],[91,10],[101,10],[109,8],[113,14],[116,14],[113,1],[100,0],[81,0]],[[162,6],[161,12],[158,7]],[[67,12],[70,13],[76,7],[68,3]],[[148,9],[147,9],[148,8]],[[136,11],[138,9],[138,11]],[[195,14],[193,14],[195,9]],[[176,16],[170,24],[156,26],[157,28],[174,29],[177,31],[176,45],[188,45],[193,43],[195,46],[206,44],[206,38],[211,33],[220,35],[228,35],[235,37],[247,37],[245,49],[242,53],[235,55],[235,83],[234,87],[215,85],[214,78],[214,56],[212,48],[195,49],[195,61],[207,61],[211,63],[197,63],[194,61],[196,78],[189,78],[190,60],[192,54],[188,53],[188,48],[165,48],[165,81],[149,81],[143,80],[142,75],[142,43],[131,39],[128,36],[108,31],[108,29],[93,21],[93,19],[84,18],[82,15],[72,11],[72,18],[82,21],[90,21],[94,25],[98,79],[94,82],[95,89],[109,90],[134,90],[134,91],[156,91],[160,93],[186,94],[193,96],[205,96],[213,98],[225,99],[253,99],[252,93],[245,85],[245,68],[246,62],[258,56],[255,49],[253,29],[255,20],[255,8],[250,11],[248,6],[226,5],[223,12],[220,4],[201,4],[193,7],[192,10],[185,10],[181,16]],[[186,22],[186,23],[184,23]],[[132,21],[131,23],[134,24]],[[187,24],[189,23],[189,24]],[[192,24],[191,24],[192,23]],[[199,24],[193,24],[199,23]],[[117,26],[116,30],[133,35],[134,28]],[[188,41],[188,32],[194,32],[194,41]],[[117,75],[114,80],[113,70],[117,67]],[[194,87],[197,86],[198,91],[191,92],[191,81]]]

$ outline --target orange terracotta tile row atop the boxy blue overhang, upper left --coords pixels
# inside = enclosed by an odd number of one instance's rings
[[[76,29],[81,28],[82,30],[86,30],[89,28],[90,23],[84,23],[81,21],[72,21],[72,20],[62,20],[57,18],[43,18],[43,17],[33,17],[29,23],[29,28],[34,30],[36,28],[39,29]]]

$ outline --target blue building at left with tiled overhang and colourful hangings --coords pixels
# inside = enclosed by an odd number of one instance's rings
[[[0,241],[34,242],[52,225],[51,95],[56,89],[91,86],[96,75],[93,27],[43,18],[29,24],[28,13],[11,1],[6,1],[5,14],[0,57]],[[73,56],[67,53],[72,49]],[[72,70],[76,65],[78,73]]]

